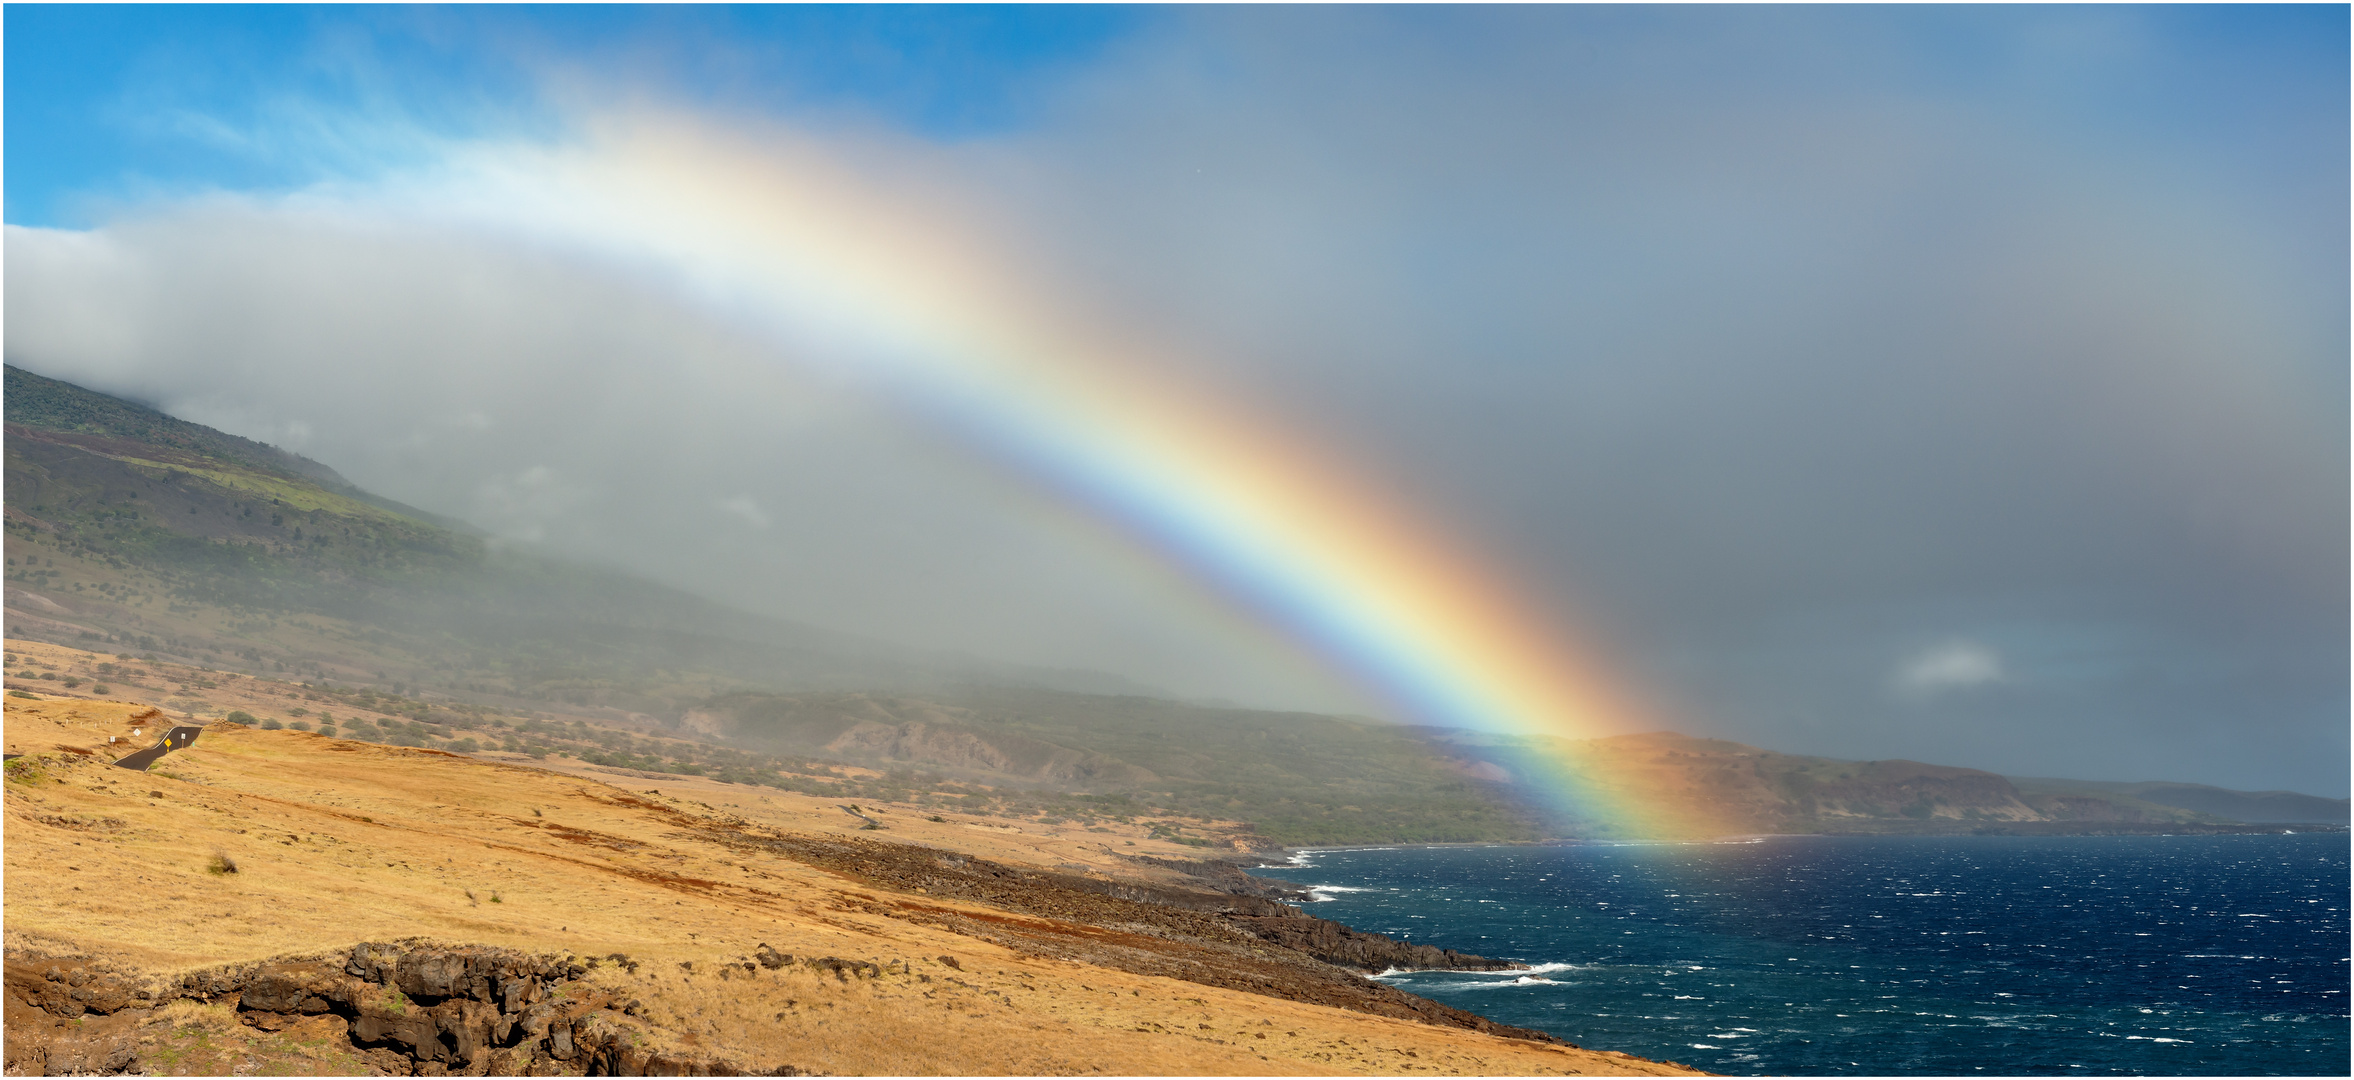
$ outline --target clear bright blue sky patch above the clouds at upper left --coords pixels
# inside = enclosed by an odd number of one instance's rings
[[[1022,125],[1040,78],[1151,12],[12,5],[5,19],[7,221],[56,226],[158,191],[273,191],[393,165],[271,139],[299,113],[445,136],[530,129],[548,120],[544,78],[560,68],[730,108],[982,136]]]

